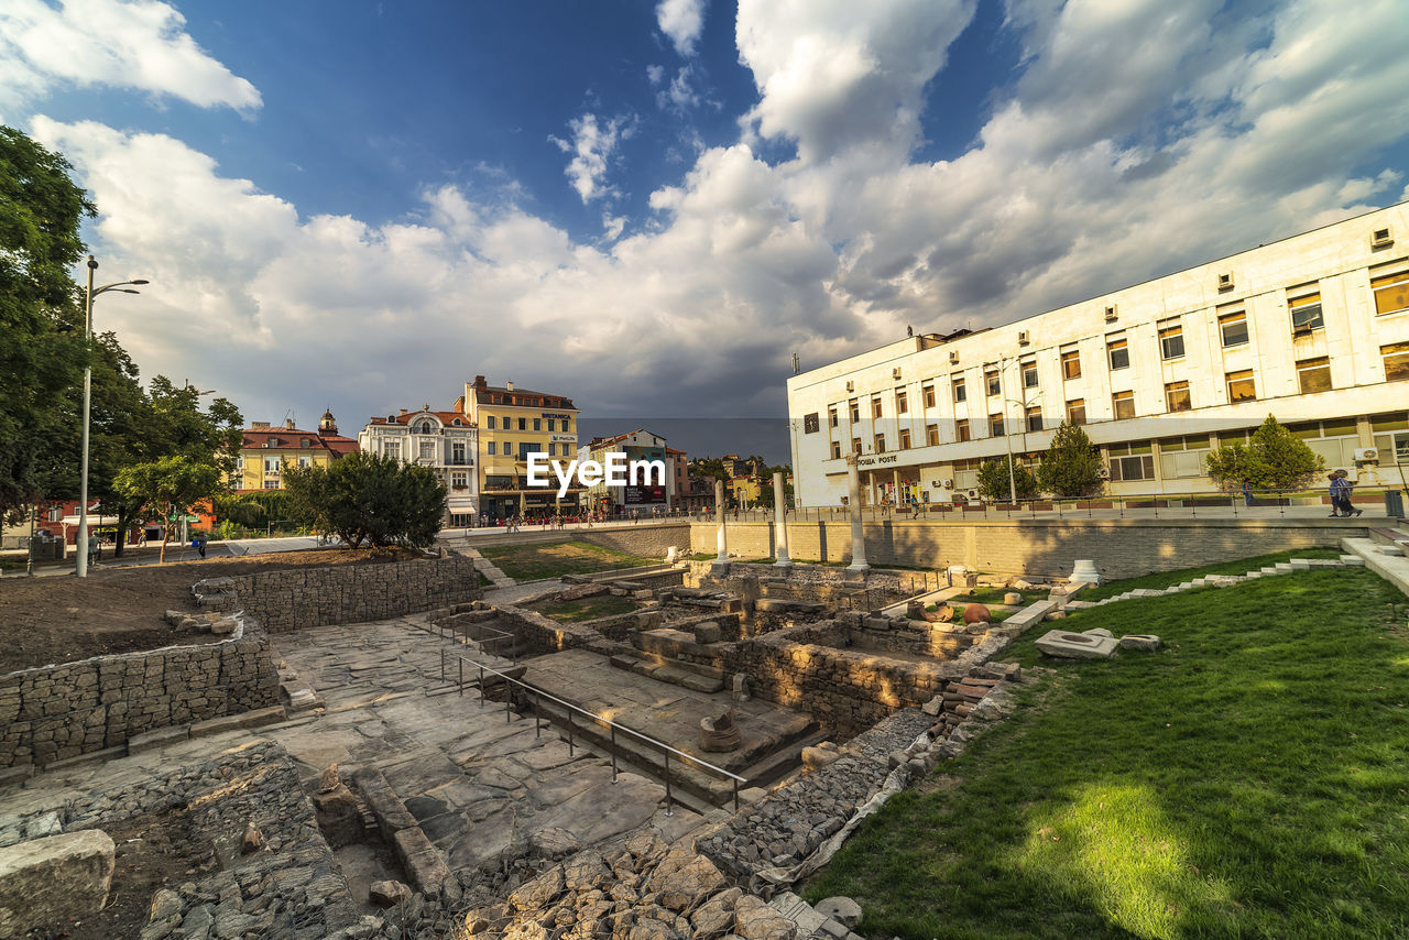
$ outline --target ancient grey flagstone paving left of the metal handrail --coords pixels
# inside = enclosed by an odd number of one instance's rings
[[[599,844],[652,822],[668,839],[703,822],[681,808],[665,816],[664,786],[626,772],[613,782],[609,761],[581,746],[569,754],[547,723],[540,729],[506,713],[475,688],[464,695],[447,688],[442,641],[416,623],[402,617],[279,637],[276,653],[327,706],[263,731],[306,778],[333,762],[376,767],[452,868],[479,865],[545,829]]]

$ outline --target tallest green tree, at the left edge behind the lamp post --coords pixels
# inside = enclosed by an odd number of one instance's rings
[[[93,203],[72,166],[13,127],[0,127],[0,516],[44,496],[44,450],[87,351],[70,271]]]

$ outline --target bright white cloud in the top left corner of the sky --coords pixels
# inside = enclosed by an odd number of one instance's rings
[[[186,20],[156,0],[6,0],[0,6],[0,109],[65,85],[107,85],[200,107],[254,111],[254,85],[210,58]]]

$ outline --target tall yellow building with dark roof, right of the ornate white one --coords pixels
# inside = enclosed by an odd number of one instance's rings
[[[527,483],[528,455],[576,458],[578,409],[572,399],[551,392],[516,389],[513,382],[489,385],[476,375],[465,385],[458,412],[479,427],[479,509],[492,519],[576,512],[582,488],[558,499],[558,488]]]

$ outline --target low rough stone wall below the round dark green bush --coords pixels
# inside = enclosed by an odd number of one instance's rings
[[[478,600],[483,593],[473,561],[459,557],[210,578],[194,592],[201,606],[245,610],[269,633],[385,620]]]

